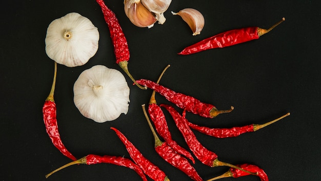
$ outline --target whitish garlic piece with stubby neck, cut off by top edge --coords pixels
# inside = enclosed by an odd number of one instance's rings
[[[156,14],[158,24],[165,23],[164,12],[168,9],[172,0],[141,0],[141,2],[149,11]]]

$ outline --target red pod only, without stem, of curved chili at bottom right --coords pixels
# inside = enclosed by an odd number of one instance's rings
[[[269,181],[268,175],[264,172],[264,170],[257,167],[256,165],[241,164],[241,165],[237,165],[237,166],[240,168],[243,168],[244,170],[247,170],[247,171],[250,171],[253,173],[257,173],[256,176],[258,176],[261,179],[261,181]],[[250,175],[247,172],[244,172],[242,170],[238,170],[235,168],[230,168],[229,172],[231,172],[233,174],[234,178]]]

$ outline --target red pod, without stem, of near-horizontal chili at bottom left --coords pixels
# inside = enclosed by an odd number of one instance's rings
[[[93,164],[113,164],[117,166],[123,166],[134,170],[144,181],[147,181],[147,178],[141,168],[139,168],[133,161],[128,158],[124,158],[121,156],[99,156],[99,155],[87,155],[86,156],[86,165],[93,165]]]

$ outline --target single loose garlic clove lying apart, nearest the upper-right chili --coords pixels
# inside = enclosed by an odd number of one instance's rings
[[[188,26],[193,31],[193,35],[200,34],[200,31],[204,28],[205,20],[202,13],[196,9],[185,8],[175,13],[173,15],[179,15],[188,24]]]

